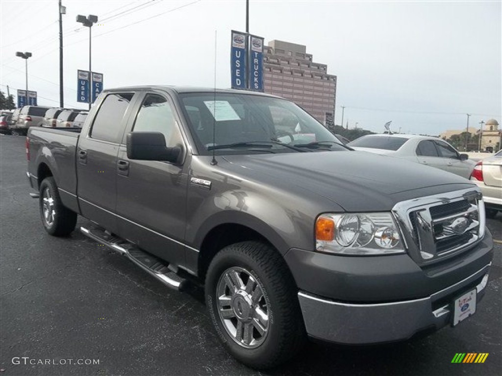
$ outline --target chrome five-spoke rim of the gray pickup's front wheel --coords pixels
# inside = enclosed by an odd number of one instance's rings
[[[245,348],[260,346],[269,332],[269,301],[247,270],[223,272],[216,288],[218,313],[230,337]]]

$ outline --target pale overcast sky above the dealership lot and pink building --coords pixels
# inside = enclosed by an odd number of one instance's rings
[[[0,0],[0,89],[28,88],[59,105],[58,1]],[[64,104],[78,103],[77,69],[104,87],[230,86],[230,31],[245,31],[245,0],[63,0]],[[338,77],[336,124],[437,135],[502,113],[501,2],[249,1],[249,32],[307,46]]]

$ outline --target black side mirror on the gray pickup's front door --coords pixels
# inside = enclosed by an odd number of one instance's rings
[[[127,157],[141,160],[165,160],[175,163],[181,147],[166,147],[166,138],[160,132],[130,132],[127,135]]]

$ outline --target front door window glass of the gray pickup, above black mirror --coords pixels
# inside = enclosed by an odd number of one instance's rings
[[[173,109],[167,99],[158,94],[147,94],[136,117],[133,131],[160,132],[169,147],[181,143]]]

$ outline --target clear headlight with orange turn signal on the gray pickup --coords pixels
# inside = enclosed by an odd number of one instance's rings
[[[316,249],[344,255],[404,253],[391,213],[322,214],[316,221]]]

